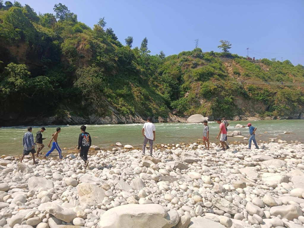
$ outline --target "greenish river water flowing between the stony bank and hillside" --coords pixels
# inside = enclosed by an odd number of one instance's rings
[[[247,126],[245,121],[231,121],[228,126],[228,131],[239,130],[243,136],[249,138],[249,130],[246,128],[235,128],[236,124]],[[257,142],[271,139],[282,139],[287,142],[300,141],[304,142],[304,120],[258,120],[251,121],[252,126],[257,128]],[[216,122],[208,123],[210,132],[210,142],[218,142],[216,136],[219,132],[219,124]],[[111,125],[86,125],[87,132],[92,137],[92,145],[99,146],[101,149],[110,149],[116,142],[123,145],[130,144],[134,148],[141,147],[143,136],[141,133],[143,124],[111,124]],[[187,124],[187,123],[155,123],[156,140],[155,143],[194,143],[198,140],[202,141],[203,124]],[[40,130],[40,126],[32,126],[34,139],[36,132]],[[43,132],[43,137],[47,137],[43,141],[47,145],[52,137],[52,133],[56,131],[58,126],[44,126],[46,131]],[[74,150],[78,145],[78,136],[81,133],[80,126],[60,126],[61,132],[58,136],[58,144],[61,149]],[[22,154],[22,137],[27,131],[27,126],[2,127],[0,128],[0,155],[19,155]],[[290,134],[284,134],[288,132]],[[230,143],[248,143],[239,137],[228,137]],[[111,146],[112,145],[112,146]],[[47,152],[48,148],[43,149],[43,153]],[[55,150],[52,154],[57,154]]]

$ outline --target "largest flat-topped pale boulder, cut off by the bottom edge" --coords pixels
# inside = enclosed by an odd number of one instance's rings
[[[106,211],[99,228],[170,228],[179,221],[178,213],[159,204],[126,204]]]

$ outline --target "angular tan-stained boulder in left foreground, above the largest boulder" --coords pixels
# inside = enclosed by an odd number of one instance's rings
[[[98,188],[89,183],[81,183],[77,185],[80,205],[88,204],[89,206],[102,203],[105,198],[105,190]]]

